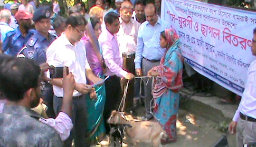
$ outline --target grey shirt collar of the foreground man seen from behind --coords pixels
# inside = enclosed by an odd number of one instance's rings
[[[24,106],[11,106],[5,104],[3,112],[6,114],[29,115],[37,119],[41,118],[39,113],[36,113],[35,111]]]

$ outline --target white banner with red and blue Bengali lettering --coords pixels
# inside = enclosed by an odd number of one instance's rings
[[[163,0],[161,18],[172,24],[182,54],[203,76],[242,95],[256,13],[196,1]]]

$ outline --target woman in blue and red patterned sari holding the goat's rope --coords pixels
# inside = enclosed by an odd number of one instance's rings
[[[154,76],[152,94],[155,100],[154,115],[159,120],[168,137],[161,143],[177,141],[176,115],[179,106],[179,89],[182,82],[182,54],[179,48],[179,37],[176,31],[166,29],[160,34],[160,46],[166,48],[160,65],[148,71],[148,76]]]

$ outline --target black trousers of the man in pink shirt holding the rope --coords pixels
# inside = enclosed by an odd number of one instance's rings
[[[105,81],[106,88],[106,102],[103,111],[103,118],[105,120],[106,133],[110,131],[109,124],[107,123],[112,110],[117,110],[121,100],[121,86],[120,78],[111,76]]]

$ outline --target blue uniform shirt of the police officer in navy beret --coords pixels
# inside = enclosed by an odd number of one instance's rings
[[[46,62],[46,50],[50,44],[56,39],[55,36],[48,34],[49,40],[36,31],[35,34],[27,41],[26,46],[18,53],[17,57],[31,58],[38,64]]]

